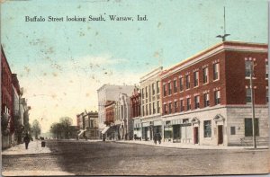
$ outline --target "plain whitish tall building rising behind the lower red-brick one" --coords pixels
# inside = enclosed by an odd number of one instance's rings
[[[97,90],[97,97],[98,97],[98,120],[99,120],[99,131],[102,132],[104,128],[106,128],[105,118],[105,103],[107,101],[114,101],[117,102],[119,100],[120,93],[126,93],[127,95],[131,95],[134,86],[132,85],[114,85],[114,84],[103,84]],[[102,133],[100,134],[100,138]]]

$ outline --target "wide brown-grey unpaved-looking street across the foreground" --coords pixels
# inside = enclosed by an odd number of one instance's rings
[[[210,175],[268,172],[267,149],[179,149],[83,140],[48,140],[46,146],[49,147],[50,153],[3,155],[3,172],[60,171],[76,175]]]

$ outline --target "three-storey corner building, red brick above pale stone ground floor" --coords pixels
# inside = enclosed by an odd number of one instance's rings
[[[268,137],[267,45],[225,41],[162,73],[165,139],[231,146],[251,137],[252,62],[256,134]]]

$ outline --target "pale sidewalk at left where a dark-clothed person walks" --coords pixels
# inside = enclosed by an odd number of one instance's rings
[[[28,149],[25,149],[25,145],[20,144],[2,151],[2,155],[32,155],[32,154],[43,154],[50,153],[49,147],[41,147],[41,141],[33,140],[30,141]]]

